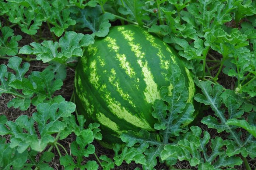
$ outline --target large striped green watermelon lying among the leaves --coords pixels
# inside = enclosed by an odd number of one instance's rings
[[[152,104],[160,99],[161,86],[172,85],[165,75],[169,63],[178,64],[193,102],[192,74],[178,54],[157,36],[136,25],[115,26],[105,38],[88,46],[78,62],[75,76],[75,103],[87,123],[101,124],[106,148],[122,143],[122,132],[142,128],[154,130]]]

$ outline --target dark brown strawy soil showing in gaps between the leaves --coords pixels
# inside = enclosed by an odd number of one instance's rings
[[[22,40],[20,42],[18,42],[20,47],[22,47],[23,45],[28,45],[29,43],[34,41],[31,38],[31,36],[21,32],[18,27],[14,27],[13,29],[14,29],[15,35],[22,35]],[[49,32],[48,26],[45,23],[42,26],[41,35],[45,39],[52,39],[52,34]],[[42,42],[42,40],[40,42]],[[212,56],[214,56],[216,59],[220,59],[220,57],[221,57],[217,52],[210,52],[210,54]],[[31,57],[35,57],[35,56],[31,56]],[[212,59],[209,58],[209,60],[212,60]],[[1,59],[1,64],[7,64],[7,63],[8,63],[8,60]],[[208,65],[208,67],[211,67],[214,64],[216,64],[216,63],[210,63]],[[29,68],[28,74],[31,71],[42,71],[46,66],[47,66],[47,64],[42,64],[41,61],[32,61],[32,62],[30,62],[30,68]],[[216,73],[217,73],[217,69],[214,69],[211,71],[212,75],[215,75]],[[55,93],[55,95],[62,95],[67,101],[69,101],[71,98],[71,95],[73,93],[73,81],[74,81],[74,69],[67,68],[67,78],[63,81],[62,89],[57,91]],[[223,73],[220,74],[218,83],[223,85],[227,89],[234,89],[234,86],[235,86],[234,85],[235,80],[231,77],[228,77],[227,75],[225,75]],[[21,111],[19,109],[14,109],[13,107],[8,108],[7,103],[11,99],[13,99],[13,97],[14,96],[12,96],[10,94],[3,94],[0,96],[0,114],[5,114],[8,118],[8,120],[15,121],[15,119],[17,117],[19,117],[20,115],[32,116],[32,114],[36,111],[34,106],[29,107],[29,109],[27,111]],[[200,112],[200,114],[203,114],[203,117],[207,116],[207,115],[212,115],[212,116],[214,115],[214,113],[211,109],[202,110]],[[198,125],[202,130],[208,131],[211,135],[211,138],[215,138],[216,136],[219,136],[219,137],[222,137],[223,139],[227,139],[226,133],[218,134],[216,130],[207,128],[207,126],[200,123],[200,121],[201,121],[201,119],[199,119],[197,121],[196,125]],[[243,131],[243,132],[244,132],[243,134],[246,134],[245,131]],[[67,149],[68,153],[70,153],[70,144],[71,144],[71,142],[73,142],[75,140],[75,138],[76,138],[75,135],[71,134],[66,139],[59,140],[59,143],[62,144]],[[8,142],[8,140],[7,140],[7,142]],[[113,158],[113,156],[114,156],[113,150],[103,148],[101,145],[98,144],[97,141],[94,141],[93,145],[96,148],[95,153],[98,157],[101,155],[106,155],[108,157]],[[210,151],[211,150],[211,148],[209,147],[210,145],[207,145],[207,146],[208,146],[208,150]],[[64,150],[62,148],[59,148],[59,149],[60,149],[60,152],[62,153],[62,155],[65,155]],[[223,148],[223,149],[225,149],[225,148]],[[52,152],[55,153],[56,156],[54,157],[52,162],[50,162],[50,166],[53,167],[55,170],[64,169],[64,167],[61,166],[59,163],[59,154],[57,153],[57,150],[53,149]],[[255,169],[256,168],[255,160],[252,160],[249,157],[247,159],[250,164],[250,167],[252,167],[252,169]],[[84,162],[87,162],[88,160],[95,160],[97,162],[97,159],[95,158],[94,155],[91,155],[90,157],[85,158]],[[132,162],[130,164],[127,164],[124,162],[121,166],[115,167],[115,169],[116,170],[133,170],[136,167],[141,168],[141,165],[136,164],[135,162]],[[191,167],[189,165],[189,162],[187,162],[187,161],[180,161],[180,162],[176,163],[174,167],[177,169],[197,169],[196,167]],[[99,167],[99,169],[101,169],[101,167]],[[157,166],[155,167],[155,169],[157,169],[157,170],[166,169],[167,170],[169,168],[165,164],[158,163]],[[245,168],[245,165],[242,164],[241,166],[235,166],[235,169],[245,170],[246,168]]]

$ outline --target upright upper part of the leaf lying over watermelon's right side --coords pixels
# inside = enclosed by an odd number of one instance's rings
[[[169,92],[168,87],[161,87],[160,96],[168,105],[166,106],[162,100],[155,100],[153,104],[155,111],[152,112],[152,116],[159,120],[159,123],[156,123],[154,128],[164,130],[162,133],[165,142],[171,136],[179,136],[180,132],[186,132],[186,125],[194,119],[192,116],[194,112],[193,105],[186,103],[188,92],[179,66],[170,63],[166,78],[170,81],[172,89]],[[167,119],[165,118],[166,109],[169,110]]]

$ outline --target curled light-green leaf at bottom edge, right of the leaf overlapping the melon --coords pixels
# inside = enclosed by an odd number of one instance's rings
[[[164,146],[161,152],[163,160],[170,164],[176,163],[177,159],[188,160],[191,166],[198,166],[199,170],[221,170],[221,167],[234,167],[234,165],[242,164],[239,157],[226,155],[222,149],[224,146],[222,138],[211,139],[211,149],[208,151],[210,134],[204,131],[203,138],[201,138],[202,131],[199,127],[192,126],[190,129],[191,132],[187,132],[178,144]]]

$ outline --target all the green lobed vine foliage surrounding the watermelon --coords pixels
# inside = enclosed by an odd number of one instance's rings
[[[196,104],[171,63],[173,88],[161,87],[152,106],[157,132],[122,133],[110,156],[95,147],[100,124],[85,126],[73,95],[61,92],[86,47],[125,24],[176,49],[193,72]],[[0,107],[24,113],[0,112],[0,169],[256,168],[256,1],[0,0],[0,29]]]

